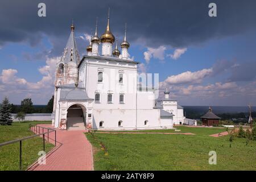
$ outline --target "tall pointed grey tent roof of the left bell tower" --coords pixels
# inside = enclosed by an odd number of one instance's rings
[[[75,38],[75,27],[71,26],[71,34],[69,35],[68,42],[63,51],[63,56],[61,57],[61,61],[64,63],[69,63],[69,61],[73,61],[76,64],[80,62],[79,51],[76,46],[76,38]]]

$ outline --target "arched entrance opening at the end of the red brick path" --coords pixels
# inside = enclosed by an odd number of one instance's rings
[[[68,108],[67,129],[85,130],[86,108],[80,104],[74,104]]]

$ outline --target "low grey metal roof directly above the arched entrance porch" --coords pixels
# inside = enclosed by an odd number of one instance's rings
[[[85,88],[63,86],[60,90],[60,101],[87,101],[93,100],[88,97]]]

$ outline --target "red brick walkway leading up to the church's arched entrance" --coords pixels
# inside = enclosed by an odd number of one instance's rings
[[[38,125],[52,127],[51,125]],[[57,147],[46,156],[46,164],[35,163],[31,171],[89,171],[93,170],[92,146],[86,139],[85,130],[56,131]],[[54,132],[49,134],[54,138]],[[49,140],[54,144],[54,141]]]

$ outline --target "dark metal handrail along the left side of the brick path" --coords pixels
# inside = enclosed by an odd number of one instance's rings
[[[47,128],[47,127],[31,125],[31,124],[30,124],[29,129],[30,130],[32,129],[32,131],[34,133],[36,133],[36,134],[32,135],[32,136],[29,136],[29,137],[19,138],[19,139],[11,140],[9,142],[0,143],[0,147],[1,147],[1,146],[6,146],[7,144],[12,144],[12,143],[19,142],[19,169],[20,170],[22,170],[22,141],[23,140],[27,140],[27,139],[30,139],[30,138],[39,137],[40,135],[43,135],[43,149],[44,149],[43,151],[46,151],[45,135],[47,134],[47,140],[49,142],[49,139],[52,139],[52,138],[49,138],[49,133],[55,132],[55,140],[54,141],[55,141],[55,146],[56,146],[56,130],[50,129],[50,128]],[[37,134],[38,133],[38,129],[39,129],[39,134]],[[43,133],[40,133],[40,129],[43,130]],[[47,130],[47,132],[44,132],[44,130]]]

